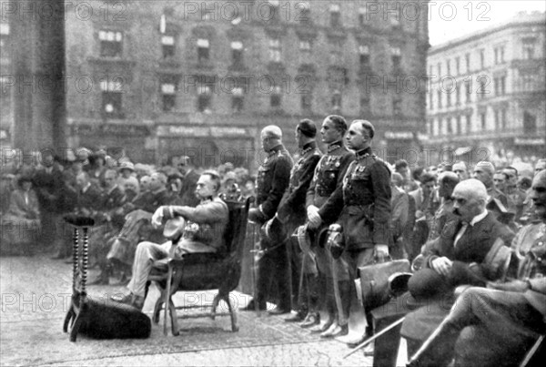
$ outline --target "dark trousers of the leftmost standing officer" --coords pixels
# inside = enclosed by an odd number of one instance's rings
[[[291,280],[287,241],[278,247],[262,239],[262,249],[267,250],[258,260],[258,280],[256,298],[260,307],[266,301],[274,301],[278,307],[290,309]]]

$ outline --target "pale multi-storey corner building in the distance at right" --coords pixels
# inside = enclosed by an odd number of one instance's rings
[[[546,15],[522,12],[430,48],[429,144],[473,148],[474,159],[544,157]]]

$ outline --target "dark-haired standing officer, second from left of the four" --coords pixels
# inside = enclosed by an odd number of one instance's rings
[[[315,126],[315,122],[309,119],[299,121],[296,127],[299,159],[292,168],[288,189],[277,211],[278,219],[284,223],[288,229],[288,234],[294,232],[298,226],[304,224],[307,220],[305,209],[307,190],[313,178],[315,167],[317,167],[317,163],[319,163],[319,159],[322,156],[319,148],[317,148],[316,136],[317,127]],[[298,241],[293,238],[288,240],[288,255],[292,286],[292,309],[296,310],[297,313],[285,320],[288,322],[303,321],[307,316],[308,296],[310,295],[304,291],[308,288],[301,269],[311,264],[308,255],[298,250]],[[300,289],[300,287],[303,289]],[[312,297],[317,297],[317,295],[313,294]]]

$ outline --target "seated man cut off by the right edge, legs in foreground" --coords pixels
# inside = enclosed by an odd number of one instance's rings
[[[518,279],[464,291],[411,365],[519,365],[546,332],[546,172],[535,176],[531,199],[540,223],[512,242],[520,258]]]

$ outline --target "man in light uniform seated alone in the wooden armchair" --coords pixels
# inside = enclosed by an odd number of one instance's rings
[[[162,219],[182,217],[184,231],[179,241],[167,241],[162,245],[140,242],[133,263],[133,278],[127,285],[128,294],[113,296],[113,301],[128,303],[142,310],[145,301],[147,277],[154,261],[167,257],[181,257],[185,253],[221,252],[225,248],[224,231],[229,212],[227,204],[218,198],[220,178],[214,171],[204,172],[197,181],[196,195],[200,203],[196,208],[164,206],[156,210],[152,224],[158,227]],[[176,245],[177,244],[177,245]],[[175,246],[176,245],[176,248]]]

